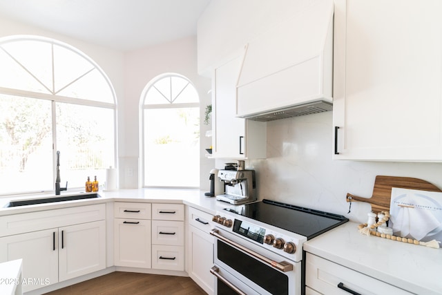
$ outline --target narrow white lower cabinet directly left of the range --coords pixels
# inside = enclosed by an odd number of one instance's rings
[[[209,272],[213,267],[214,238],[209,234],[212,216],[198,209],[189,207],[189,276],[204,289],[207,294],[214,294],[215,277]]]

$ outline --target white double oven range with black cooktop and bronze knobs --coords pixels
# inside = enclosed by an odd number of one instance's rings
[[[213,216],[215,294],[305,293],[302,244],[348,221],[344,216],[271,200]]]

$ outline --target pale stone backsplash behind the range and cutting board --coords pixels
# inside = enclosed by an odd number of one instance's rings
[[[442,163],[332,160],[332,112],[267,123],[267,159],[248,160],[256,170],[258,199],[268,198],[320,209],[366,222],[370,205],[347,193],[370,198],[376,175],[427,180],[442,188]],[[220,160],[217,166],[220,167]],[[221,166],[222,167],[222,166]]]

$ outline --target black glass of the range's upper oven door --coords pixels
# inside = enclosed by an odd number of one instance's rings
[[[270,294],[289,294],[289,278],[277,269],[261,263],[252,256],[217,240],[218,260],[262,287]],[[219,291],[219,289],[218,289]],[[218,294],[224,294],[218,292]]]

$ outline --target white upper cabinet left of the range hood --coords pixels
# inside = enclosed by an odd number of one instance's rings
[[[215,69],[212,124],[214,158],[265,158],[267,124],[236,117],[236,84],[241,59]]]

